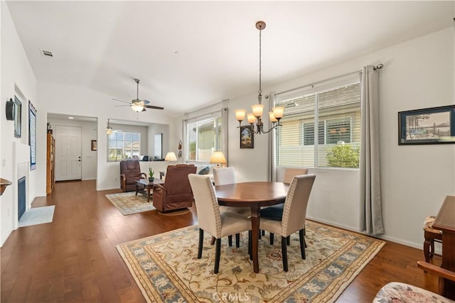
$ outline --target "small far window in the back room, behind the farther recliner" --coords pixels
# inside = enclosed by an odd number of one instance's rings
[[[107,160],[117,161],[133,158],[141,151],[141,134],[117,131],[107,136]]]

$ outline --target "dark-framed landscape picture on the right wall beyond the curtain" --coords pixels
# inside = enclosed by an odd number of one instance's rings
[[[398,145],[454,143],[455,105],[398,112]]]

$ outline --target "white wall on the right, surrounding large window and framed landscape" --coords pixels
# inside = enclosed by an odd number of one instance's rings
[[[446,195],[455,194],[455,145],[398,145],[398,111],[455,104],[454,29],[446,28],[369,55],[276,85],[283,92],[383,63],[380,71],[380,141],[383,238],[422,248],[422,225],[436,215]],[[266,92],[267,93],[267,92]],[[237,180],[267,180],[268,136],[255,136],[254,149],[239,148],[234,110],[255,101],[255,92],[229,104],[230,166]],[[266,106],[268,101],[265,102]],[[309,218],[359,229],[357,170],[316,169]]]

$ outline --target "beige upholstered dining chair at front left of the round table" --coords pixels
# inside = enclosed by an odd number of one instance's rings
[[[193,190],[194,202],[198,213],[199,246],[198,259],[202,258],[204,231],[210,233],[216,239],[215,268],[218,273],[220,268],[221,238],[232,234],[251,230],[251,221],[232,211],[220,212],[215,189],[207,175],[188,175],[191,189]]]

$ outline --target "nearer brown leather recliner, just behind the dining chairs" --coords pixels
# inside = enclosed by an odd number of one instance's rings
[[[195,165],[169,165],[164,184],[154,184],[153,202],[161,212],[185,209],[193,205],[189,174],[196,174]]]

